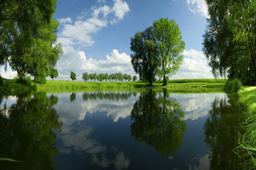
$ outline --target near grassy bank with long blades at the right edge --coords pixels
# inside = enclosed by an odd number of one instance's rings
[[[246,108],[246,121],[242,124],[245,133],[239,137],[239,147],[236,152],[241,158],[241,169],[256,168],[256,87],[245,87],[238,92],[239,102]]]

